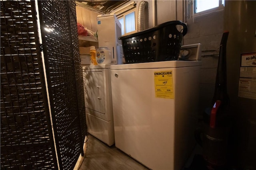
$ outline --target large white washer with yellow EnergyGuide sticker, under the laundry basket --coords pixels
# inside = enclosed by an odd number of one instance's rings
[[[195,146],[200,65],[111,65],[116,147],[152,170],[180,170]]]

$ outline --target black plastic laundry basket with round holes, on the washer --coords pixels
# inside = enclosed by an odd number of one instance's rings
[[[176,26],[182,25],[179,31]],[[119,37],[127,64],[178,60],[187,26],[168,21],[150,29]]]

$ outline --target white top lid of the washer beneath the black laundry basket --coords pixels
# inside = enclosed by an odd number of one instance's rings
[[[159,61],[149,63],[134,64],[114,64],[110,66],[111,70],[121,69],[142,69],[142,68],[178,68],[189,66],[201,66],[201,61]]]

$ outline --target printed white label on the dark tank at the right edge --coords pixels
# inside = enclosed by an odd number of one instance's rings
[[[241,54],[238,97],[256,100],[256,53]]]

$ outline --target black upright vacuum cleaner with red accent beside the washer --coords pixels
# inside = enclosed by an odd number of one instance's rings
[[[195,132],[203,148],[208,170],[224,170],[227,166],[228,133],[230,129],[229,97],[227,93],[226,44],[228,31],[222,35],[212,107],[205,110],[203,127]]]

